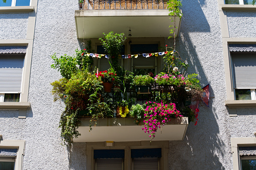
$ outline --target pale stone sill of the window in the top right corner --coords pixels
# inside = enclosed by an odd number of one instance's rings
[[[236,12],[255,12],[256,5],[221,5],[221,9]]]

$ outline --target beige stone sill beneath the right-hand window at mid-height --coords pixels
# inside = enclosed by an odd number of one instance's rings
[[[256,108],[256,100],[226,100],[228,108]]]

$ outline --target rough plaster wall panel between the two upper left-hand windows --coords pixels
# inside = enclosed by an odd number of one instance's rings
[[[0,14],[0,40],[26,39],[29,14]]]

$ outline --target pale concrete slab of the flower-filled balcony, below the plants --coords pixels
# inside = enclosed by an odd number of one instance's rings
[[[78,127],[81,136],[74,142],[96,141],[142,141],[150,140],[149,134],[136,125],[133,118],[104,118],[97,121],[97,126],[89,129],[90,118],[80,118]],[[153,140],[183,140],[188,126],[188,117],[173,118],[162,129],[158,129]]]

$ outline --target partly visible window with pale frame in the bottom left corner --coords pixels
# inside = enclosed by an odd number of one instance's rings
[[[25,140],[1,140],[0,169],[21,170]]]

